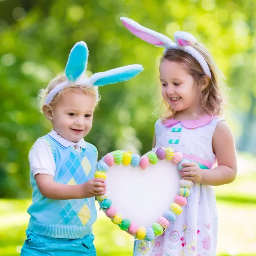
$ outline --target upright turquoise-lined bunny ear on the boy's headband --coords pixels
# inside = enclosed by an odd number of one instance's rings
[[[73,46],[65,68],[65,74],[69,81],[76,81],[84,73],[87,68],[88,55],[87,45],[83,41]]]

